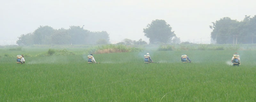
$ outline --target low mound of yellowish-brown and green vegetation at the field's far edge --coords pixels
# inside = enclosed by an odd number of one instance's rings
[[[104,54],[104,53],[122,53],[142,51],[140,48],[127,47],[126,45],[102,45],[88,49],[88,53]]]

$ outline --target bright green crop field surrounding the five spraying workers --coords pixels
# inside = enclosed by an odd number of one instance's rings
[[[256,101],[255,51],[152,51],[94,54],[87,64],[84,48],[76,55],[34,56],[49,48],[0,49],[1,102],[188,102]],[[62,48],[63,49],[63,48]],[[160,63],[144,64],[150,53]],[[233,53],[242,65],[233,67]],[[17,54],[30,54],[16,64]],[[181,63],[187,54],[192,63]],[[13,57],[14,56],[14,57]]]

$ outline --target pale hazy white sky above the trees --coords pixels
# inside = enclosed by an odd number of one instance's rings
[[[17,40],[40,25],[84,25],[107,31],[112,43],[139,40],[152,20],[164,19],[183,41],[210,43],[209,25],[223,17],[256,15],[255,0],[2,0],[0,40]]]

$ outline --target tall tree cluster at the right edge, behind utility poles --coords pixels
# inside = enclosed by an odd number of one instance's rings
[[[233,35],[237,35],[237,43],[242,44],[252,43],[253,38],[256,38],[256,15],[252,18],[245,16],[242,21],[225,17],[212,24],[211,38],[213,40],[217,38],[217,44],[232,44]],[[256,39],[253,43],[256,43]]]

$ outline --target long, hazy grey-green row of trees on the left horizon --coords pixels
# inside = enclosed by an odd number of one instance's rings
[[[80,26],[70,26],[69,29],[53,29],[50,26],[40,26],[33,33],[18,37],[18,45],[33,44],[103,44],[109,43],[106,31],[90,32]]]

